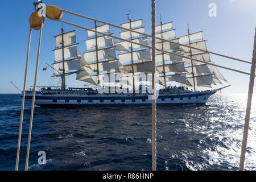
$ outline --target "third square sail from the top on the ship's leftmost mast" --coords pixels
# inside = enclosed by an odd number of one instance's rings
[[[73,69],[79,70],[81,69],[80,60],[72,60],[72,61],[65,61],[64,62],[65,71],[70,71]],[[63,63],[55,63],[53,64],[54,68],[54,75],[57,75],[63,71]]]

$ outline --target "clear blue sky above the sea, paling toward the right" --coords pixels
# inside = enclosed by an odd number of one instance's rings
[[[2,1],[0,6],[0,93],[19,93],[10,84],[11,81],[23,89],[24,71],[27,56],[28,18],[34,12],[30,0],[26,1]],[[56,5],[61,9],[73,11],[78,14],[104,20],[113,24],[126,23],[126,14],[131,15],[132,20],[143,19],[146,26],[146,34],[151,34],[151,1],[150,0],[44,0],[46,5]],[[209,16],[209,4],[216,4],[216,17]],[[237,57],[238,59],[251,61],[254,34],[256,25],[256,1],[255,0],[156,0],[156,25],[162,22],[173,21],[176,28],[176,36],[187,34],[187,24],[190,32],[204,31],[203,36],[207,41],[208,51],[223,55]],[[83,18],[63,13],[63,20],[93,28],[94,22]],[[76,30],[77,48],[85,52],[87,33],[67,24],[63,25],[64,31]],[[118,28],[110,27],[110,32],[119,36]],[[38,51],[39,30],[32,31],[30,59],[28,66],[27,89],[34,85],[36,67],[36,55]],[[42,46],[40,50],[39,72],[37,86],[60,85],[60,79],[52,78],[53,70],[46,63],[53,63],[55,39],[53,36],[60,34],[61,23],[46,18],[43,27]],[[239,69],[250,73],[250,64],[211,55],[214,63],[225,67]],[[42,71],[48,67],[47,71]],[[219,69],[231,86],[223,90],[224,93],[247,93],[249,76],[242,75],[225,69]],[[76,81],[75,76],[67,77],[68,86],[83,86],[83,82]]]

